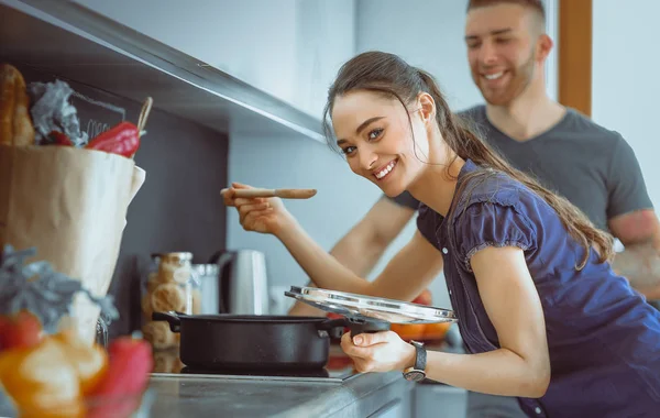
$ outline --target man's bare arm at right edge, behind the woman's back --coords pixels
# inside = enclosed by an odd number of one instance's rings
[[[609,220],[609,230],[625,245],[613,268],[648,299],[660,299],[660,222],[650,209]]]

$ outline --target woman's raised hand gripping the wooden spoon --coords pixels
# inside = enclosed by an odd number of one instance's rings
[[[282,199],[277,197],[237,198],[234,197],[235,189],[253,187],[240,183],[232,183],[231,185],[231,188],[222,193],[224,205],[237,208],[239,220],[245,231],[277,235],[283,228],[286,228],[293,221],[293,217],[284,207]]]

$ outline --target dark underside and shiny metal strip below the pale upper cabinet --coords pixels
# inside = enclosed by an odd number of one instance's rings
[[[223,133],[323,142],[320,119],[80,4],[0,0],[0,61],[47,72]]]

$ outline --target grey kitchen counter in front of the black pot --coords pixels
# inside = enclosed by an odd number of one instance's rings
[[[377,417],[400,405],[409,415],[415,385],[398,372],[358,374],[341,384],[154,376],[152,417]]]

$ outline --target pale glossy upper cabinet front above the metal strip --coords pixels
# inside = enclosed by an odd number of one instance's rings
[[[355,51],[355,0],[75,0],[320,118]]]

